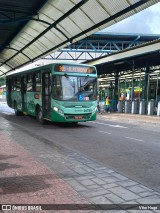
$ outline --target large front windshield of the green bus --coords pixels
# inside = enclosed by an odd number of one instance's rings
[[[52,79],[52,98],[61,101],[95,101],[97,78],[89,76],[58,76]]]

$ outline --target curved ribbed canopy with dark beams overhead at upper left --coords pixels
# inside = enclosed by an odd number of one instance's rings
[[[0,0],[0,76],[159,0]]]

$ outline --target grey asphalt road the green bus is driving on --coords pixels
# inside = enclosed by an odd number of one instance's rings
[[[95,122],[76,126],[51,123],[41,126],[30,116],[16,117],[13,110],[2,103],[0,116],[16,128],[46,139],[50,145],[56,143],[86,155],[160,192],[160,132],[147,124],[113,122],[99,117]]]

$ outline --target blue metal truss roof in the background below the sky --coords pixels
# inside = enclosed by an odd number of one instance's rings
[[[73,60],[81,63],[86,60],[107,56],[114,52],[135,47],[159,38],[160,35],[156,34],[117,34],[98,32],[73,44],[69,44],[67,47],[44,58],[42,57],[42,59],[50,59],[53,61]]]

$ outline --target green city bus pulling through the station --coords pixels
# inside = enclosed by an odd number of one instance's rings
[[[15,115],[32,115],[44,124],[96,119],[97,71],[94,66],[54,63],[6,77],[7,104]]]

